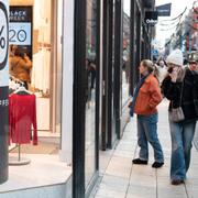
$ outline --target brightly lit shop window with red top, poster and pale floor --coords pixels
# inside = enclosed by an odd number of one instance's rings
[[[44,197],[50,190],[51,197],[53,191],[67,197],[72,167],[58,156],[63,1],[10,0],[9,6],[9,180],[0,195]]]

